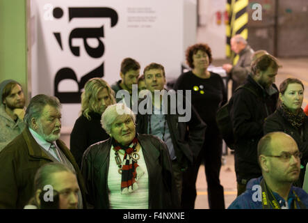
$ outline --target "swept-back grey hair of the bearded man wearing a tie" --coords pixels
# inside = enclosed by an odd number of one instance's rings
[[[26,114],[24,115],[24,122],[31,126],[31,119],[35,118],[38,120],[42,115],[42,111],[46,105],[51,107],[56,107],[57,109],[61,108],[61,103],[58,98],[49,95],[35,95],[31,98],[28,107],[26,108]]]

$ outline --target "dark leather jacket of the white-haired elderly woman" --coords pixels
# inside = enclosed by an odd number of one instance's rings
[[[138,134],[149,177],[149,209],[179,208],[170,155],[165,144],[149,134]],[[111,139],[90,146],[83,155],[81,172],[94,208],[109,208],[108,168]],[[120,186],[120,183],[119,183]]]

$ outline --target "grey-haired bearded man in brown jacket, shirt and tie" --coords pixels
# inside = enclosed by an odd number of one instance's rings
[[[36,95],[24,116],[26,128],[0,153],[0,208],[24,208],[33,196],[36,171],[49,162],[70,168],[79,183],[78,207],[85,207],[82,176],[72,153],[59,140],[60,102],[48,95]]]

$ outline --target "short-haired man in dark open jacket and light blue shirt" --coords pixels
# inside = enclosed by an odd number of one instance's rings
[[[200,152],[206,125],[190,102],[184,97],[179,98],[182,95],[164,90],[165,70],[161,64],[149,64],[145,67],[144,75],[145,85],[151,92],[149,97],[145,98],[150,102],[147,103],[146,109],[152,107],[152,112],[138,112],[137,132],[154,134],[167,145],[180,198],[183,171],[192,164],[194,157]],[[159,97],[155,97],[155,91]],[[179,109],[182,108],[186,109],[186,113],[191,113],[191,116],[181,116]]]

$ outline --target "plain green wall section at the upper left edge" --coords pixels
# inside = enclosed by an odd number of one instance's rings
[[[15,79],[28,95],[26,0],[0,0],[0,82]]]

